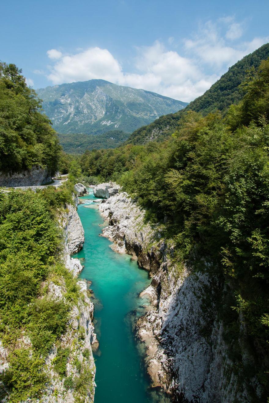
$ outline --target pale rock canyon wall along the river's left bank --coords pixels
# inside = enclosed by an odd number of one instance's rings
[[[79,251],[84,242],[84,231],[77,214],[78,197],[74,195],[74,205],[69,204],[65,210],[59,212],[59,225],[63,229],[64,248],[61,256],[62,262],[77,277],[82,270],[78,259],[71,258],[70,254]],[[48,380],[46,388],[42,391],[40,403],[75,403],[83,401],[90,403],[94,401],[95,390],[95,364],[92,355],[92,348],[98,348],[98,341],[94,333],[92,323],[94,304],[88,297],[86,283],[77,281],[79,287],[78,301],[71,303],[69,319],[66,331],[61,335],[56,344],[52,346],[45,358],[46,374]],[[65,301],[67,287],[62,277],[57,280],[47,280],[42,283],[42,289],[46,289],[46,298],[50,300]],[[18,347],[31,349],[31,341],[25,336],[18,340]],[[55,360],[59,351],[69,351],[65,375],[59,374],[55,368]],[[8,350],[0,341],[0,373],[8,368]],[[78,391],[74,388],[75,382],[81,379]],[[5,401],[5,400],[4,400]],[[27,399],[27,403],[33,401]],[[34,400],[35,401],[35,400]]]

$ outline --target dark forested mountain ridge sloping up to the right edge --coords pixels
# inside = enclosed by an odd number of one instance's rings
[[[210,89],[190,102],[184,111],[161,116],[149,125],[140,127],[133,131],[126,143],[146,144],[152,140],[163,141],[175,131],[182,113],[188,110],[201,112],[204,116],[217,110],[225,113],[231,104],[237,104],[243,98],[244,93],[240,92],[239,85],[245,81],[248,70],[252,67],[257,69],[261,60],[268,57],[269,44],[265,44],[231,66]]]

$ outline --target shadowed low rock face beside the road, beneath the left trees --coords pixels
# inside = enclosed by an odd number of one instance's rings
[[[38,186],[51,182],[51,180],[48,169],[40,166],[33,166],[22,172],[8,172],[7,174],[0,172],[0,186],[4,187]]]

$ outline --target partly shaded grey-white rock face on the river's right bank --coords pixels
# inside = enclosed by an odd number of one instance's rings
[[[163,387],[174,402],[261,401],[257,378],[242,376],[229,358],[234,341],[225,341],[216,307],[219,295],[227,292],[225,285],[209,273],[175,265],[174,247],[163,239],[162,226],[144,224],[145,212],[127,193],[103,201],[99,210],[109,219],[103,235],[115,242],[117,251],[137,256],[152,275],[142,293],[152,306],[136,326],[152,385]],[[241,351],[251,367],[254,357],[242,345]]]

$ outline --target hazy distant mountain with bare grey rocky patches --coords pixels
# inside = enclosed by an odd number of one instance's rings
[[[154,92],[89,80],[37,89],[43,109],[59,133],[99,135],[131,133],[159,116],[185,108],[187,102]]]

